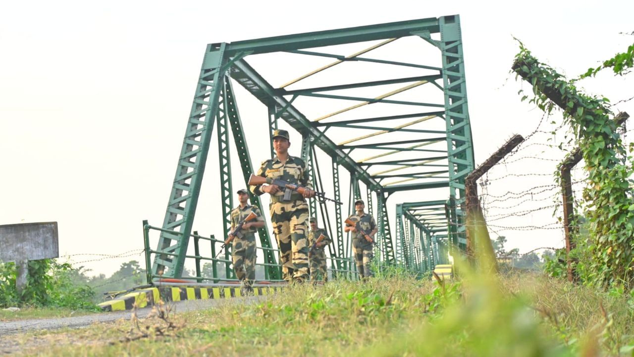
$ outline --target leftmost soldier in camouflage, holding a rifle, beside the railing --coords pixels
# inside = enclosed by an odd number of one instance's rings
[[[262,212],[256,206],[249,206],[249,192],[246,189],[239,189],[238,201],[240,206],[231,211],[231,231],[238,224],[253,212],[256,214],[256,220],[245,222],[242,225],[242,238],[238,236],[229,236],[233,241],[231,249],[233,258],[233,270],[236,272],[236,278],[242,283],[242,291],[245,293],[253,292],[253,281],[256,279],[256,229],[264,227],[264,217]]]

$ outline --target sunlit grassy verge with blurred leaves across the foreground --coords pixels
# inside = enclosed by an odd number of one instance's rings
[[[535,273],[463,275],[444,286],[397,275],[288,288],[256,304],[176,314],[166,336],[132,342],[121,342],[139,333],[131,321],[20,338],[69,341],[23,350],[64,356],[594,356],[634,343],[626,295]],[[138,322],[141,331],[165,325]]]

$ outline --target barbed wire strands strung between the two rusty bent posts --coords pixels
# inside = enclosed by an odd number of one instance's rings
[[[518,257],[565,246],[562,188],[555,173],[574,150],[570,137],[564,124],[544,114],[524,141],[477,182],[491,239],[505,237],[505,250],[519,248]],[[579,201],[586,180],[583,165],[575,166],[571,175],[575,201]]]

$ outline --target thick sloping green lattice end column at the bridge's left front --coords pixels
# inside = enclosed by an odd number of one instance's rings
[[[161,232],[157,250],[174,255],[156,255],[152,264],[153,274],[179,278],[183,273],[189,235],[218,110],[223,82],[221,76],[226,63],[225,47],[225,43],[209,44],[205,50],[162,226],[163,229],[179,231],[180,234]]]

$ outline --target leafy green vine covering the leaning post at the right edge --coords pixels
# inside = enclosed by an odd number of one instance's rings
[[[590,224],[586,280],[634,287],[634,201],[629,195],[633,171],[611,119],[609,100],[582,93],[574,81],[540,63],[521,43],[512,71],[533,85],[529,102],[549,114],[556,108],[563,111],[564,123],[581,148],[588,173],[583,201]]]

